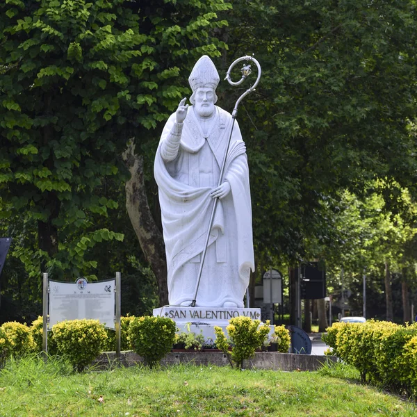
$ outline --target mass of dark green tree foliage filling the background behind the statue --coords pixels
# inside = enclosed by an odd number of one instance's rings
[[[366,199],[383,179],[377,192],[394,214],[390,184],[416,197],[411,0],[8,0],[0,13],[3,230],[19,236],[24,283],[39,282],[41,263],[67,279],[149,265],[165,302],[152,165],[202,54],[221,78],[245,54],[263,68],[238,113],[259,272],[311,259],[312,242],[340,259],[343,190]],[[220,83],[220,106],[231,111],[245,88]]]

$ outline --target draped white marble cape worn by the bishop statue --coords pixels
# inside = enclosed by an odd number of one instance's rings
[[[236,247],[236,254],[231,256],[227,262],[236,264],[237,268],[234,269],[238,270],[244,288],[247,288],[249,284],[250,269],[254,270],[252,208],[245,143],[240,135],[238,123],[233,122],[231,115],[217,106],[215,106],[215,110],[214,127],[208,138],[204,138],[199,130],[193,108],[188,109],[188,115],[183,124],[179,156],[177,156],[177,158],[181,158],[180,161],[165,163],[160,151],[163,141],[174,126],[175,114],[167,121],[156,152],[154,175],[159,188],[163,237],[167,256],[167,284],[170,293],[173,292],[176,279],[181,274],[181,265],[202,254],[204,250],[214,202],[210,197],[213,188],[190,185],[195,182],[195,179],[192,178],[194,174],[189,168],[190,158],[202,149],[206,140],[213,153],[213,158],[221,167],[232,125],[233,133],[223,178],[223,181],[228,181],[230,184],[231,198],[225,197],[218,201],[208,246],[212,245],[220,234],[235,240],[233,246]],[[188,172],[190,176],[187,183],[175,178],[177,177],[175,167],[178,167],[179,163],[181,171]],[[215,180],[217,184],[218,178]],[[230,206],[224,206],[224,204]],[[233,213],[233,221],[236,222],[233,228],[224,224],[224,210]],[[228,234],[228,229],[233,229],[234,233]],[[241,297],[240,300],[243,300],[243,294],[239,294],[237,297]],[[178,297],[176,298],[176,300],[171,300],[170,297],[170,304],[172,301],[181,301],[178,300]]]

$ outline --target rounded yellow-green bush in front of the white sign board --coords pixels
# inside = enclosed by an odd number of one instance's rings
[[[58,348],[81,372],[101,351],[107,335],[99,320],[65,320],[52,326],[52,337]]]

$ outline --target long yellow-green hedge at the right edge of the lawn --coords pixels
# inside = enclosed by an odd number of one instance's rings
[[[362,382],[417,395],[417,325],[392,322],[335,323],[323,341],[361,373]]]

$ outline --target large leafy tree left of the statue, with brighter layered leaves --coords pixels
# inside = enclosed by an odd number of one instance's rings
[[[0,4],[2,215],[18,213],[37,238],[15,251],[31,277],[40,269],[94,276],[88,253],[122,239],[96,227],[118,207],[106,182],[129,178],[121,155],[130,138],[149,156],[157,143],[149,129],[188,92],[173,80],[197,54],[224,47],[207,28],[223,26],[216,12],[227,8],[222,0]]]

